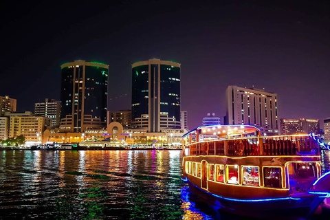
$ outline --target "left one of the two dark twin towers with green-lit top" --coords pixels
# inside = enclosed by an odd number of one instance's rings
[[[74,61],[61,65],[61,129],[84,132],[107,126],[109,65]]]

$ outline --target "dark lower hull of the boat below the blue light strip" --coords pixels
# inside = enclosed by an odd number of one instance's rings
[[[254,219],[296,219],[308,218],[318,209],[323,197],[306,195],[305,197],[274,197],[269,199],[235,199],[221,197],[203,190],[186,179],[192,194],[221,212],[251,217]]]

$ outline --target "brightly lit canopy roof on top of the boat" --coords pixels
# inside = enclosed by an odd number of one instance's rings
[[[234,136],[234,135],[258,135],[260,129],[253,125],[246,124],[230,124],[230,125],[206,125],[198,126],[196,129],[189,131],[182,137],[189,134],[217,135],[218,137]]]

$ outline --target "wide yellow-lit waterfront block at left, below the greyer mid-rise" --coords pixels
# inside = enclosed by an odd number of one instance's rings
[[[25,137],[25,142],[43,142],[43,131],[47,124],[43,116],[34,116],[31,111],[23,113],[6,113],[10,117],[9,137],[16,138],[19,135]]]

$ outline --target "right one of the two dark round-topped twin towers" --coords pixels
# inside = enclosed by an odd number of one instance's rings
[[[132,65],[132,128],[181,129],[179,63],[150,59]]]

